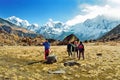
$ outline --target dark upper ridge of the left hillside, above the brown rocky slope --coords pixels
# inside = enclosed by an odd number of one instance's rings
[[[26,28],[21,28],[7,20],[0,18],[0,30],[5,31],[9,34],[17,34],[20,37],[36,37],[37,34],[26,30]]]

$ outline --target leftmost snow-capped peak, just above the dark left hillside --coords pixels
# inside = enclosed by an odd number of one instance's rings
[[[16,24],[19,27],[26,28],[27,30],[30,30],[30,31],[35,31],[38,28],[38,24],[30,24],[27,20],[22,20],[15,16],[11,16],[6,20],[8,20],[13,24]]]

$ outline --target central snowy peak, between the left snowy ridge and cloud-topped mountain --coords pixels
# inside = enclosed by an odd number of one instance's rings
[[[36,32],[42,34],[45,38],[57,39],[64,31],[68,30],[68,26],[60,21],[49,21],[41,26]]]

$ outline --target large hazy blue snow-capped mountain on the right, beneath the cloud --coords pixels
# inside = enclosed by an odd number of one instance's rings
[[[120,24],[120,20],[97,16],[71,27],[68,32],[75,34],[80,40],[97,39]]]

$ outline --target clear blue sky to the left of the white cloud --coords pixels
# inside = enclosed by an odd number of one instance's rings
[[[49,18],[66,21],[75,15],[76,0],[0,0],[0,17],[16,16],[45,23]]]

